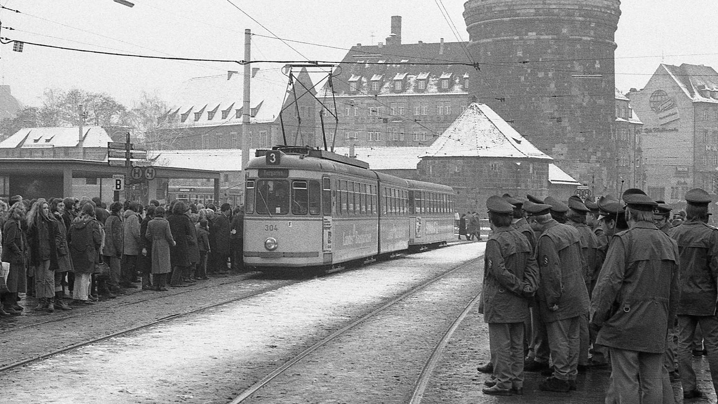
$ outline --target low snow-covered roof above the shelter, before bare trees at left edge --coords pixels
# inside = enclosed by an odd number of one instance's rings
[[[22,128],[14,135],[0,142],[0,149],[76,147],[80,138],[78,126],[58,128]],[[83,127],[83,147],[107,147],[112,141],[110,135],[101,126]]]

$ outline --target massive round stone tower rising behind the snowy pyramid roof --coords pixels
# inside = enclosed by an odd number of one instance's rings
[[[617,192],[619,0],[469,0],[470,88],[595,194]]]

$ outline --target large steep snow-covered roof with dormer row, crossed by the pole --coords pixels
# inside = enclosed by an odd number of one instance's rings
[[[312,88],[311,78],[303,70],[294,80]],[[274,122],[279,117],[285,96],[292,90],[289,79],[279,68],[257,70],[251,77],[251,123]],[[172,100],[172,107],[162,117],[173,127],[202,127],[238,124],[243,106],[243,74],[196,77],[187,80]],[[297,97],[307,93],[297,85]]]

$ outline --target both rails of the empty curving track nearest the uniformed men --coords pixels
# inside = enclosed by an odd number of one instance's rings
[[[368,314],[365,314],[361,316],[358,319],[355,319],[354,321],[351,321],[349,324],[345,324],[345,326],[341,327],[340,329],[335,330],[331,334],[327,335],[327,337],[321,339],[319,342],[316,342],[315,344],[312,344],[312,346],[307,347],[302,352],[299,352],[296,354],[292,359],[287,360],[284,362],[283,365],[280,365],[279,367],[276,367],[271,372],[267,373],[265,377],[263,377],[258,382],[255,382],[250,387],[243,390],[240,394],[236,395],[236,398],[231,400],[228,404],[239,404],[243,401],[247,400],[248,398],[251,398],[255,393],[257,393],[259,390],[261,390],[263,387],[268,385],[273,380],[277,379],[280,375],[284,374],[287,370],[291,369],[294,365],[297,365],[299,362],[301,362],[305,357],[307,357],[309,354],[312,354],[313,352],[316,352],[318,349],[327,346],[327,344],[330,344],[330,342],[334,342],[338,337],[342,336],[343,334],[349,332],[350,330],[353,330],[360,326],[360,324],[364,324],[365,322],[369,321],[370,319],[375,319],[380,314],[383,314],[388,309],[392,308],[393,306],[396,306],[397,304],[406,301],[406,299],[409,299],[411,296],[416,295],[420,291],[423,291],[429,286],[434,285],[434,283],[437,283],[439,281],[442,281],[442,279],[447,278],[451,276],[454,273],[457,273],[459,271],[462,271],[463,269],[467,268],[468,266],[475,265],[480,261],[480,258],[475,258],[474,260],[467,261],[465,263],[462,263],[458,266],[454,266],[453,268],[449,269],[448,271],[444,271],[443,273],[440,273],[437,276],[434,276],[433,278],[430,278],[428,281],[424,281],[421,284],[414,286],[413,288],[409,289],[409,291],[406,291],[404,293],[401,293],[401,295],[394,297],[390,301],[387,301],[385,304],[382,304],[376,309],[373,309]],[[426,385],[428,385],[429,378],[432,375],[432,371],[434,370],[434,367],[436,367],[437,363],[439,362],[439,358],[441,357],[441,354],[446,347],[449,339],[452,337],[452,334],[456,329],[460,326],[463,319],[467,314],[470,312],[470,310],[475,306],[476,302],[478,301],[479,296],[475,295],[473,299],[470,301],[467,306],[465,306],[465,309],[462,310],[461,314],[457,317],[456,320],[454,320],[453,324],[449,329],[447,329],[446,332],[444,332],[442,339],[440,340],[439,344],[437,344],[436,347],[434,347],[432,354],[429,357],[429,360],[426,362],[426,365],[424,365],[423,370],[421,371],[421,375],[419,375],[419,379],[416,381],[416,384],[414,385],[414,392],[411,394],[412,397],[412,404],[418,404],[421,401],[421,397],[424,393],[424,390],[426,389]]]

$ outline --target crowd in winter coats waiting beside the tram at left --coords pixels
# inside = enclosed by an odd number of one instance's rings
[[[34,310],[67,311],[130,289],[167,291],[243,271],[243,215],[226,203],[180,200],[0,200],[0,316],[27,309],[20,293],[37,299]]]

